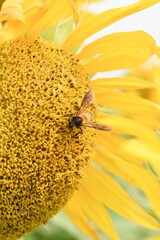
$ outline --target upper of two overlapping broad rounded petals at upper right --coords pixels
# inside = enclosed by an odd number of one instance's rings
[[[112,56],[113,53],[127,53],[131,49],[133,52],[139,53],[143,48],[147,51],[149,46],[154,49],[155,41],[143,31],[112,33],[86,45],[77,56],[79,59],[95,54]]]

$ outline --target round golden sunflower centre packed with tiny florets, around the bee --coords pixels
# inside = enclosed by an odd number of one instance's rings
[[[0,51],[0,239],[14,240],[56,214],[78,188],[94,133],[68,128],[89,90],[80,63],[36,40]]]

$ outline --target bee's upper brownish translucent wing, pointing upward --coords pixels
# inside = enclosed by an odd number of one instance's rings
[[[80,106],[80,109],[77,113],[77,115],[81,114],[82,112],[85,111],[85,109],[94,103],[94,92],[93,90],[90,90],[86,93],[86,95],[84,96],[83,100],[82,100],[82,103],[81,103],[81,106]]]

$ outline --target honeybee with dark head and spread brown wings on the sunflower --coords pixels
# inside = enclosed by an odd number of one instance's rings
[[[76,115],[71,114],[71,117],[68,120],[69,129],[72,129],[74,126],[77,128],[84,126],[84,127],[95,128],[102,131],[112,130],[112,128],[109,126],[101,125],[94,122],[92,113],[85,112],[86,108],[88,108],[93,103],[94,103],[94,92],[93,90],[90,90],[85,94],[80,108],[79,109],[76,108],[77,110]]]

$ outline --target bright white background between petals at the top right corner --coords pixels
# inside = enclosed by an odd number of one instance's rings
[[[102,12],[105,9],[125,6],[137,1],[133,0],[103,0],[100,3],[93,4],[90,8],[93,12]],[[129,17],[112,24],[104,32],[113,33],[121,31],[144,30],[152,35],[160,45],[160,3],[141,12],[135,13]]]

